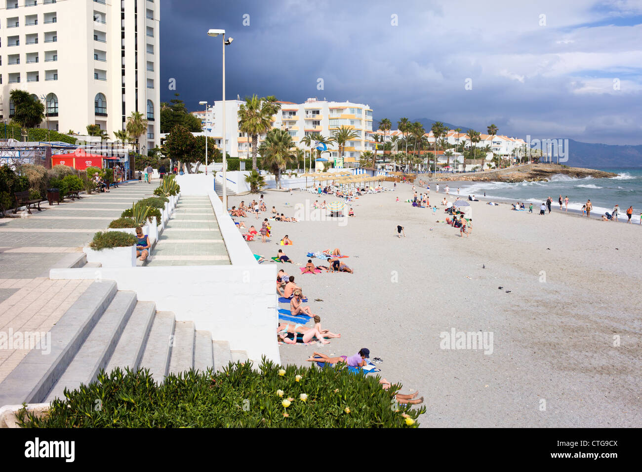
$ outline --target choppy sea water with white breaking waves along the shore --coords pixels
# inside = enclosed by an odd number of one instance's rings
[[[557,202],[560,195],[562,200],[568,196],[569,209],[580,210],[586,200],[593,203],[591,214],[600,216],[605,212],[611,213],[613,207],[620,205],[620,221],[627,220],[627,208],[633,205],[632,222],[640,222],[642,212],[642,169],[641,168],[598,168],[599,170],[617,173],[618,177],[611,179],[573,179],[565,174],[551,177],[549,182],[462,182],[460,196],[475,195],[503,202],[524,202],[526,208],[532,203],[539,211],[539,205],[546,198],[553,198],[552,208],[559,209]],[[442,182],[442,186],[443,186]],[[449,182],[451,195],[456,193],[458,182]]]

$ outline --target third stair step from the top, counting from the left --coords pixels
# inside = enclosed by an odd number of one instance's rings
[[[107,364],[106,372],[111,372],[116,367],[125,370],[125,367],[136,370],[143,359],[147,337],[152,329],[156,304],[154,302],[137,302],[132,311],[132,316],[123,330],[123,334],[116,345],[114,354]]]

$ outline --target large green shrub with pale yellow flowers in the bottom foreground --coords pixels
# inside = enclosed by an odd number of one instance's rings
[[[123,233],[121,233],[123,234]],[[148,369],[101,371],[98,380],[65,391],[37,418],[26,409],[19,426],[30,428],[416,428],[422,406],[395,405],[401,387],[383,390],[378,376],[340,367],[281,366],[266,361],[229,365],[222,372],[169,374],[158,384]],[[299,381],[296,376],[300,375]],[[282,397],[279,396],[282,390]],[[305,400],[301,394],[306,394]],[[102,408],[93,408],[96,399]],[[290,399],[285,408],[283,401]],[[286,416],[287,414],[287,416]],[[406,419],[404,415],[409,418]],[[408,421],[408,423],[406,423]]]

